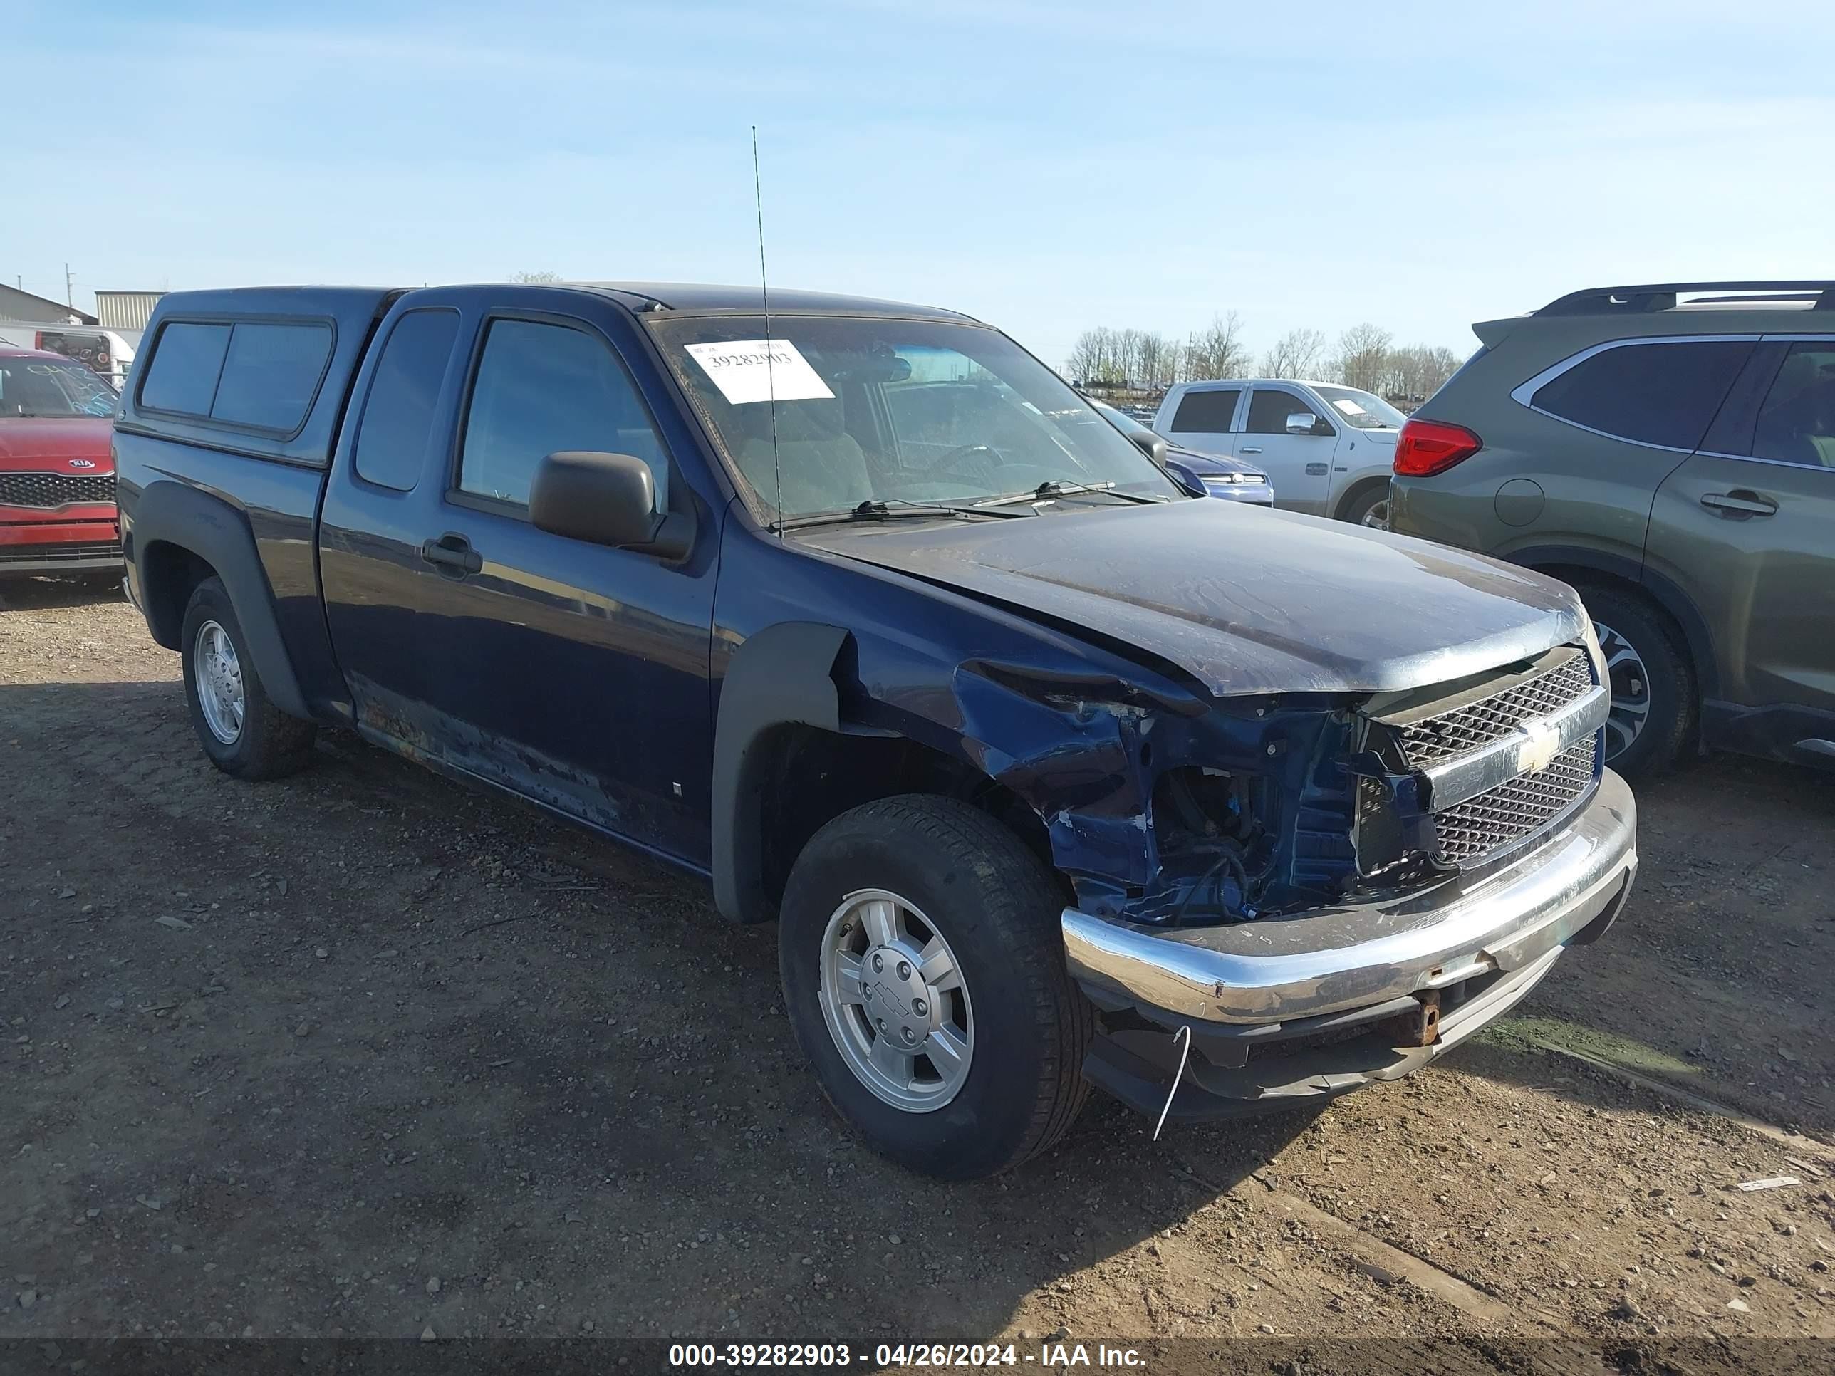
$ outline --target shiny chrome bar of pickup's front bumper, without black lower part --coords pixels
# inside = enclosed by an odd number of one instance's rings
[[[1233,927],[1162,930],[1066,908],[1064,954],[1092,993],[1180,1020],[1318,1018],[1527,971],[1615,912],[1635,871],[1637,804],[1606,771],[1580,813],[1497,873]]]

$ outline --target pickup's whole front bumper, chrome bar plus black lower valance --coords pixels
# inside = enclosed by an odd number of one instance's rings
[[[1637,804],[1611,771],[1521,860],[1395,903],[1160,930],[1066,908],[1070,972],[1101,1009],[1083,1073],[1149,1114],[1202,1121],[1409,1075],[1507,1013],[1617,919]],[[1439,1015],[1418,1033],[1424,1004]],[[1189,1029],[1189,1057],[1176,1049]],[[1174,1093],[1178,1086],[1189,1086]]]

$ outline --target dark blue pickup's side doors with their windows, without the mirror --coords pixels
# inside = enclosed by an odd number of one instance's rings
[[[609,303],[556,312],[539,290],[411,305],[358,382],[363,409],[321,521],[327,620],[358,725],[706,864],[719,506],[681,479],[672,453],[692,440],[661,383],[651,374],[646,394],[644,369],[626,365],[642,363],[635,328]],[[444,330],[455,347],[435,369]],[[644,459],[666,510],[701,512],[688,558],[536,530],[534,466],[562,449]]]

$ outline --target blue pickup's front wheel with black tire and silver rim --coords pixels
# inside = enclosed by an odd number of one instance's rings
[[[1039,859],[951,798],[883,798],[809,840],[778,925],[785,1009],[873,1150],[974,1180],[1064,1136],[1090,1093],[1094,1011],[1061,910]]]

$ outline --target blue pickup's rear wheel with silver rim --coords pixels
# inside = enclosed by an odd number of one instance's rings
[[[222,580],[206,578],[191,593],[180,651],[191,725],[213,765],[240,780],[306,767],[317,727],[286,716],[268,697]]]

